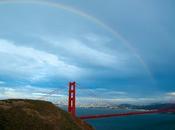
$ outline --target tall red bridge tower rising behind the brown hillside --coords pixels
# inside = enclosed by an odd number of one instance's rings
[[[75,87],[76,82],[69,82],[68,112],[71,113],[72,116],[76,116]]]

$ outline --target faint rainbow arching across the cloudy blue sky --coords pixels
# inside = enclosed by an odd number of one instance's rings
[[[40,4],[40,5],[46,5],[46,6],[50,6],[53,8],[59,8],[65,11],[68,11],[70,13],[79,15],[81,17],[84,17],[86,19],[88,19],[89,21],[94,22],[95,24],[101,26],[102,28],[104,28],[105,30],[109,31],[110,33],[112,33],[116,38],[120,39],[122,41],[123,44],[125,44],[125,46],[131,50],[131,52],[134,54],[134,56],[139,60],[139,62],[143,65],[144,69],[146,70],[148,76],[150,77],[150,79],[152,80],[152,82],[155,84],[155,80],[153,78],[153,75],[149,69],[149,67],[147,66],[147,64],[145,63],[145,61],[143,60],[143,58],[138,54],[138,52],[136,51],[136,49],[124,38],[120,35],[119,32],[113,30],[110,26],[106,25],[103,21],[99,20],[98,18],[91,16],[81,10],[77,10],[75,8],[72,8],[70,6],[64,5],[64,4],[60,4],[58,2],[49,2],[47,0],[0,0],[0,4],[15,4],[15,3],[24,3],[24,4]]]

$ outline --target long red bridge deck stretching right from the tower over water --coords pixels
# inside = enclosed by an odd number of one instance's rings
[[[80,119],[96,119],[96,118],[107,118],[107,117],[121,117],[130,115],[143,115],[143,114],[156,114],[156,113],[172,113],[175,109],[160,109],[160,110],[147,110],[147,111],[133,111],[125,113],[114,113],[114,114],[97,114],[97,115],[85,115],[80,116]]]

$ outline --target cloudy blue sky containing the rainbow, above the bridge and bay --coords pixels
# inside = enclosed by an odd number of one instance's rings
[[[0,1],[0,98],[174,102],[173,0]],[[47,98],[48,99],[48,98]]]

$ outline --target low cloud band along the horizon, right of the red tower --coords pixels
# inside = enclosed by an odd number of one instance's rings
[[[83,105],[115,105],[115,104],[137,104],[146,105],[152,103],[174,103],[175,93],[162,93],[150,97],[133,97],[124,91],[110,91],[108,89],[81,89],[84,95],[78,94],[77,102]]]

